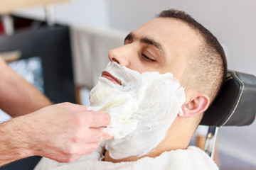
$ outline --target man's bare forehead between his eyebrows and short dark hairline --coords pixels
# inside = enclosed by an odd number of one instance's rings
[[[201,43],[195,30],[176,18],[154,18],[132,31],[137,38],[149,37],[156,40],[165,50],[178,48],[194,50]]]

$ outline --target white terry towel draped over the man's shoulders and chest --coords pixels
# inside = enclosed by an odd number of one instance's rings
[[[99,147],[94,153],[78,159],[76,162],[59,163],[50,159],[43,158],[36,166],[36,170],[218,170],[218,166],[210,159],[208,155],[198,147],[188,147],[188,149],[178,149],[170,152],[164,152],[159,157],[144,157],[136,162],[112,163],[100,161],[104,145]]]

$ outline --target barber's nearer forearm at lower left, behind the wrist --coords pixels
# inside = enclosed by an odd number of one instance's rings
[[[0,124],[0,166],[31,156],[19,124],[15,119]]]

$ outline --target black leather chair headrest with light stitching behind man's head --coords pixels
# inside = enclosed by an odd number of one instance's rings
[[[256,77],[228,71],[220,93],[203,115],[200,125],[250,125],[256,114]]]

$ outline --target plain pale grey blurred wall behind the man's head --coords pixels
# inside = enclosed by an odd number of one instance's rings
[[[73,0],[55,6],[59,22],[127,31],[168,8],[186,11],[216,35],[225,47],[229,69],[256,74],[255,0]],[[43,8],[28,8],[19,13],[44,17]]]

